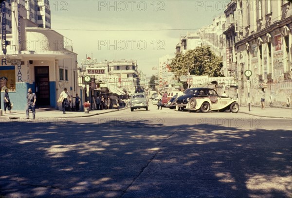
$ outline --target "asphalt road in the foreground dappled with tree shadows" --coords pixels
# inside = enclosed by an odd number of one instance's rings
[[[130,109],[0,123],[3,197],[292,197],[291,120]]]

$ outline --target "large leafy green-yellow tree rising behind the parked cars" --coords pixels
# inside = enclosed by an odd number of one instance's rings
[[[176,79],[181,75],[187,75],[187,65],[190,75],[208,75],[209,77],[220,77],[223,67],[222,58],[216,56],[208,46],[197,47],[188,50],[185,54],[177,54],[171,62],[171,72],[174,72]],[[186,83],[183,83],[186,87]]]

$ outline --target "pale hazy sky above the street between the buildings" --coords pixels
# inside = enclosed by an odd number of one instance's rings
[[[73,41],[79,63],[91,53],[98,61],[133,59],[149,76],[158,72],[152,67],[158,68],[159,57],[175,53],[181,35],[196,31],[186,29],[211,24],[229,2],[50,0],[51,23]]]

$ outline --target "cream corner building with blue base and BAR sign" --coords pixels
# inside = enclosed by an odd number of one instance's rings
[[[1,106],[6,87],[16,110],[25,109],[29,88],[37,95],[37,107],[59,108],[56,101],[63,88],[81,92],[77,54],[70,39],[50,29],[48,0],[5,0],[0,12]]]

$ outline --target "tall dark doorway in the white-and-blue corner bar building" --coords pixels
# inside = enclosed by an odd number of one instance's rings
[[[50,106],[49,66],[35,67],[37,106]]]

